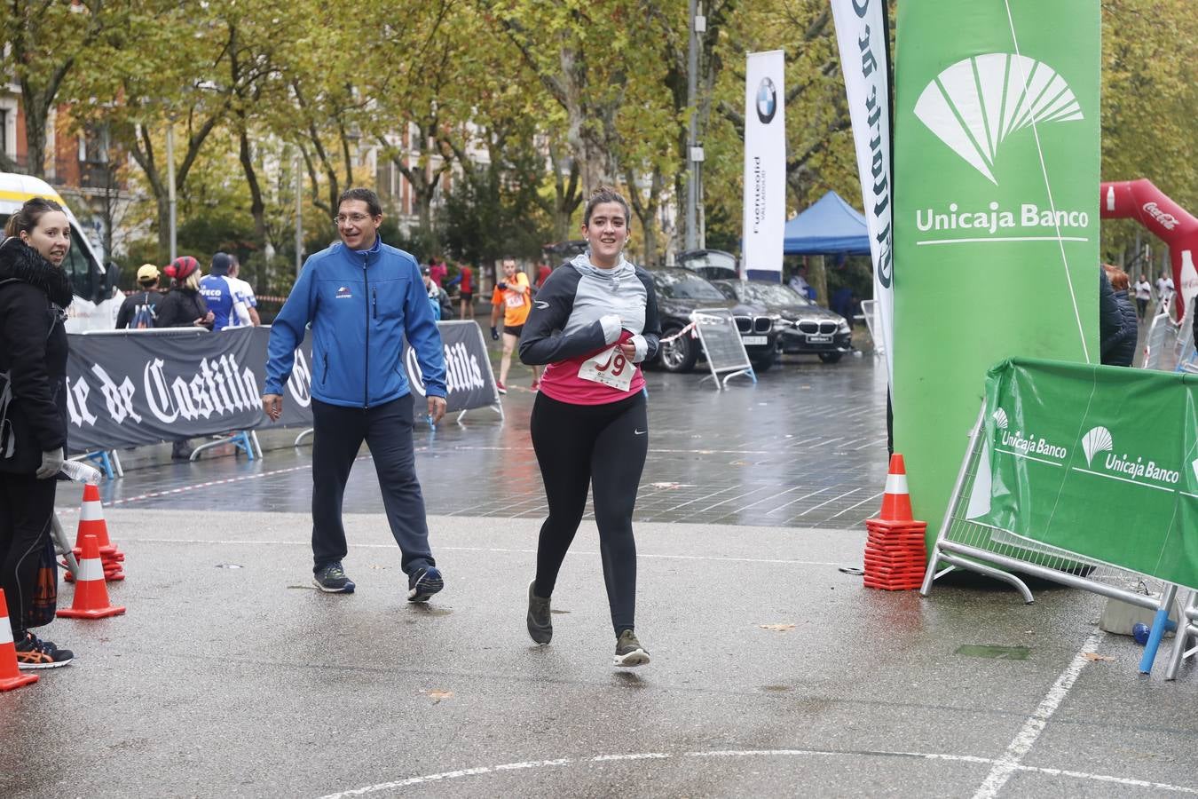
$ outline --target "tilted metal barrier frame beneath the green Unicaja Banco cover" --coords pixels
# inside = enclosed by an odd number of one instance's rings
[[[967,569],[1010,585],[1030,604],[1035,601],[1031,591],[1015,574],[1017,571],[1156,611],[1156,621],[1140,660],[1140,672],[1148,673],[1156,658],[1161,636],[1174,627],[1168,621],[1168,613],[1176,598],[1178,586],[1048,544],[1029,541],[1010,531],[982,525],[967,516],[978,466],[985,450],[985,407],[982,404],[969,432],[969,446],[932,546],[920,595],[927,597],[932,583],[944,575]],[[1154,595],[1157,593],[1160,598]]]

